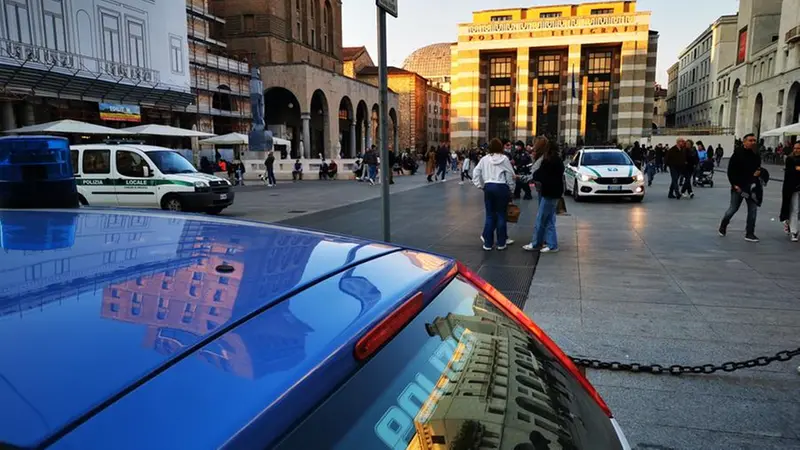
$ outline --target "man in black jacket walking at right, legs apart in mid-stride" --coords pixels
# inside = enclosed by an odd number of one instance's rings
[[[730,161],[728,161],[728,181],[731,183],[731,203],[722,223],[719,225],[719,235],[725,236],[728,232],[728,224],[739,211],[742,201],[747,202],[747,226],[745,228],[744,239],[748,242],[758,242],[755,235],[756,216],[758,205],[750,198],[750,187],[758,182],[761,175],[761,155],[758,153],[756,137],[748,134],[742,139],[742,148],[733,151]]]

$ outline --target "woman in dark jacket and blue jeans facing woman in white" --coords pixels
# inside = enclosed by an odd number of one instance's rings
[[[536,181],[539,188],[539,212],[536,214],[536,226],[533,230],[531,243],[523,246],[523,250],[542,253],[555,253],[558,251],[558,236],[556,235],[556,213],[558,200],[564,195],[564,163],[558,152],[558,146],[551,144],[547,147],[542,164],[532,175],[521,177],[523,183]]]

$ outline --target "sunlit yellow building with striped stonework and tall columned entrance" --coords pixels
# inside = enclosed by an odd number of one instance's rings
[[[657,45],[635,1],[475,12],[453,49],[453,146],[649,136]]]

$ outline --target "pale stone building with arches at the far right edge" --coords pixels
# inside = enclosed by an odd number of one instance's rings
[[[717,74],[718,122],[737,137],[798,123],[800,3],[741,0],[736,36],[735,58]]]

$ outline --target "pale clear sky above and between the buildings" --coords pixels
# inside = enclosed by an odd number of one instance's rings
[[[454,42],[457,25],[472,21],[472,11],[580,3],[579,0],[398,0],[398,15],[387,16],[389,64],[400,67],[414,50],[437,42]],[[650,28],[659,32],[656,81],[667,85],[667,69],[678,54],[724,14],[735,14],[738,0],[639,0],[638,11],[650,11]],[[377,13],[374,0],[342,0],[345,47],[365,45],[378,63]]]

